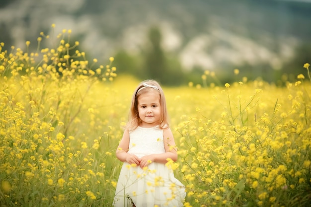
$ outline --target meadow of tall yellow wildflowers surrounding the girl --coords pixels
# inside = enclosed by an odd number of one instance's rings
[[[0,43],[1,207],[112,206],[139,81],[117,76],[113,58],[87,60],[70,36],[41,33],[35,51]],[[296,82],[284,74],[284,87],[238,69],[225,85],[205,71],[202,84],[163,87],[179,155],[167,166],[186,186],[185,207],[309,206],[309,66]]]

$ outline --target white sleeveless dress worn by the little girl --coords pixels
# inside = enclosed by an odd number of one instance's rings
[[[130,132],[129,154],[143,157],[164,153],[163,130],[158,127],[142,128]],[[124,162],[116,187],[113,206],[182,207],[185,187],[165,164],[153,162],[148,169]]]

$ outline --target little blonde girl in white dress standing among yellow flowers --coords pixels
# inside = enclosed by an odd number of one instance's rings
[[[183,206],[185,188],[165,165],[177,160],[177,149],[167,123],[164,93],[155,80],[136,88],[116,156],[124,164],[114,207]]]

